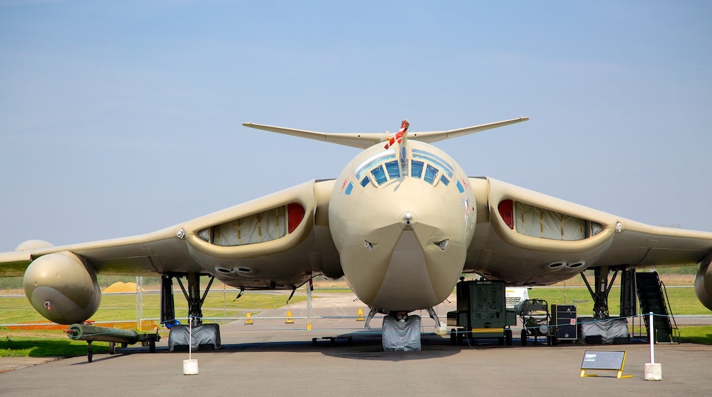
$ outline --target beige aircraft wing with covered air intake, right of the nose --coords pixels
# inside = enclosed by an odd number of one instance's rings
[[[587,268],[697,265],[712,233],[649,226],[506,184],[470,178],[478,224],[466,270],[513,284],[549,284]]]

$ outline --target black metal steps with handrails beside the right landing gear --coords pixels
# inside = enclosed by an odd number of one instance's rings
[[[658,277],[658,273],[636,272],[635,277],[640,312],[645,320],[648,335],[650,335],[649,313],[653,312],[655,343],[679,343],[680,329],[675,323],[665,285]]]

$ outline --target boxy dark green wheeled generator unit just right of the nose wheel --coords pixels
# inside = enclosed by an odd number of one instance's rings
[[[517,314],[506,309],[506,285],[503,281],[460,279],[456,286],[457,310],[448,312],[447,325],[451,344],[464,339],[498,338],[499,344],[511,346],[511,325]]]

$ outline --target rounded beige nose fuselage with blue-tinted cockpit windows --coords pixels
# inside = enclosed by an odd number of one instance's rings
[[[423,142],[365,150],[330,198],[329,227],[347,282],[383,312],[426,309],[448,297],[475,223],[466,174]]]

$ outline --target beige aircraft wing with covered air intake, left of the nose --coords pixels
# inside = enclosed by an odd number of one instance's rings
[[[312,272],[340,277],[327,220],[333,183],[309,181],[144,235],[0,253],[0,277],[22,276],[32,260],[61,252],[100,274],[212,274],[253,290],[291,289]]]

